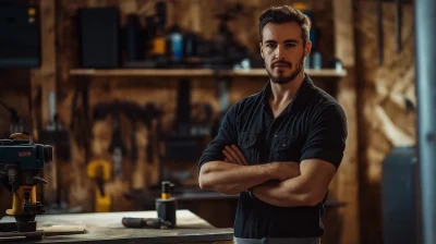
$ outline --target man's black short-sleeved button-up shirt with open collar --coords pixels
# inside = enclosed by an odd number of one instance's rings
[[[238,145],[250,164],[272,161],[301,162],[323,159],[338,169],[346,147],[347,119],[342,108],[316,87],[308,75],[295,97],[274,120],[268,102],[269,82],[255,95],[233,105],[225,115],[218,135],[198,162],[201,167],[223,160],[226,145]],[[240,194],[234,236],[317,237],[323,235],[324,200],[316,206],[278,207]]]

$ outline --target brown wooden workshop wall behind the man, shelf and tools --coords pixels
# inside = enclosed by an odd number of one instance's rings
[[[77,84],[92,82],[89,90],[88,117],[92,118],[93,110],[98,102],[111,101],[114,99],[134,101],[140,105],[154,102],[162,111],[162,126],[165,131],[171,131],[174,124],[177,107],[178,78],[170,77],[78,77],[70,76],[70,70],[78,68],[80,60],[80,32],[77,28],[77,9],[82,7],[119,7],[121,10],[121,23],[125,23],[129,13],[136,13],[141,16],[153,13],[156,0],[59,0],[56,2],[56,80],[58,112],[61,123],[69,129],[73,123],[71,141],[71,160],[58,158],[60,176],[59,185],[56,179],[48,176],[52,184],[45,191],[49,202],[55,202],[60,194],[62,202],[68,207],[81,211],[93,211],[93,197],[95,184],[86,175],[85,142],[89,139],[90,160],[105,159],[111,161],[111,155],[107,148],[112,136],[112,121],[108,117],[101,121],[85,120],[85,111],[82,109],[81,99],[77,107],[72,111],[73,98]],[[218,21],[214,20],[217,10],[231,5],[237,0],[168,0],[168,26],[179,23],[182,28],[199,33],[206,38],[214,38],[218,28]],[[324,59],[332,58],[334,35],[331,0],[307,0],[305,3],[313,3],[315,20],[314,25],[320,29],[319,49]],[[316,2],[316,4],[315,4]],[[346,219],[340,224],[326,227],[328,233],[341,235],[340,229],[347,234],[347,229],[353,229],[353,224],[361,225],[361,240],[353,240],[350,243],[382,243],[382,209],[380,209],[380,180],[382,161],[395,146],[409,146],[415,142],[415,111],[416,105],[414,90],[414,33],[413,33],[413,9],[411,5],[403,5],[402,20],[402,51],[395,51],[395,5],[384,3],[384,54],[385,62],[378,65],[377,57],[377,12],[375,1],[354,1],[355,15],[355,48],[356,65],[354,68],[358,80],[358,119],[359,119],[359,179],[353,184],[359,184],[360,190],[360,223]],[[268,5],[289,4],[286,0],[243,1],[245,11],[239,20],[229,23],[230,29],[237,34],[237,39],[249,47],[252,52],[257,52],[258,30],[257,17]],[[322,16],[322,21],[316,20]],[[255,24],[254,24],[255,23]],[[53,29],[49,29],[52,32]],[[43,33],[45,35],[45,33]],[[43,44],[47,45],[47,44]],[[10,82],[13,78],[13,83]],[[38,78],[38,77],[36,77]],[[35,80],[28,71],[0,71],[0,100],[17,109],[21,117],[26,118],[26,123],[32,123],[28,106],[28,94],[31,93],[29,80]],[[39,81],[39,84],[45,81]],[[254,94],[262,89],[265,78],[238,77],[231,83],[229,99],[230,103]],[[315,80],[316,84],[335,94],[335,85],[329,80]],[[192,78],[192,102],[209,102],[217,115],[218,100],[215,91],[216,83],[209,77]],[[19,90],[11,93],[11,90]],[[35,90],[33,90],[35,93]],[[40,97],[33,100],[33,105],[40,105]],[[35,120],[38,111],[43,108],[34,106]],[[40,113],[39,113],[40,114]],[[0,135],[9,134],[10,114],[0,109]],[[349,121],[355,123],[355,121]],[[45,126],[45,125],[41,125]],[[28,126],[31,127],[31,126]],[[148,143],[148,133],[143,123],[137,123],[136,141],[138,150],[138,163],[133,167],[130,163],[129,151],[124,158],[124,176],[109,182],[106,188],[114,196],[112,210],[138,209],[133,202],[125,200],[123,194],[132,188],[143,188],[150,184],[158,183],[159,160],[157,157],[152,162],[146,162],[145,147]],[[130,136],[132,126],[128,118],[121,118],[121,136],[130,148]],[[153,138],[153,137],[150,137]],[[354,142],[353,139],[349,142]],[[356,146],[356,145],[350,145]],[[142,149],[141,149],[142,148]],[[160,147],[154,147],[158,150]],[[59,155],[58,155],[59,156]],[[351,158],[353,155],[346,155]],[[355,160],[355,159],[354,159]],[[193,162],[185,166],[192,172],[196,171]],[[340,172],[339,172],[340,173]],[[195,173],[194,173],[195,175]],[[53,180],[53,181],[51,181]],[[192,183],[195,184],[196,179]],[[336,187],[341,187],[348,182],[339,181],[332,183],[330,196],[336,195]],[[61,188],[57,192],[58,187]],[[3,204],[3,202],[2,202]],[[9,205],[8,205],[9,206]],[[335,212],[336,213],[336,212]],[[331,218],[338,218],[338,216]],[[348,237],[347,240],[351,240]]]

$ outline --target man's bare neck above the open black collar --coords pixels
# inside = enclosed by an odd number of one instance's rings
[[[304,70],[302,70],[296,77],[286,84],[271,84],[271,95],[269,97],[269,102],[272,106],[288,105],[291,102],[293,97],[296,95],[301,84],[304,80]]]

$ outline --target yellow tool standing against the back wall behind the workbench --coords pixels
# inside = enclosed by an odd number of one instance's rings
[[[95,195],[95,211],[110,211],[112,199],[110,194],[105,192],[105,182],[108,182],[111,178],[110,162],[106,160],[90,161],[87,166],[87,175],[96,181],[98,187]]]

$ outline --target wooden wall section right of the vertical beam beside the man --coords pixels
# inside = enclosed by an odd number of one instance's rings
[[[384,63],[377,60],[377,4],[359,1],[356,72],[360,111],[361,243],[382,243],[382,162],[392,147],[413,146],[415,65],[413,7],[402,4],[401,52],[395,45],[395,4],[383,4]],[[408,106],[409,105],[409,106]]]

